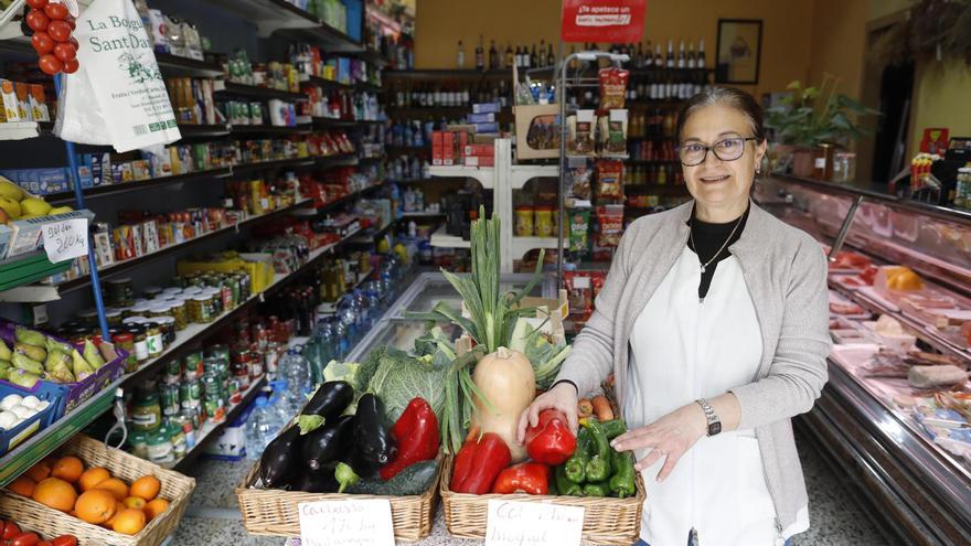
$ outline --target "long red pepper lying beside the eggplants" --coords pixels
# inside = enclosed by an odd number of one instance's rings
[[[438,454],[438,418],[424,398],[415,398],[391,429],[398,446],[395,458],[381,469],[381,479],[391,480],[416,462]]]

